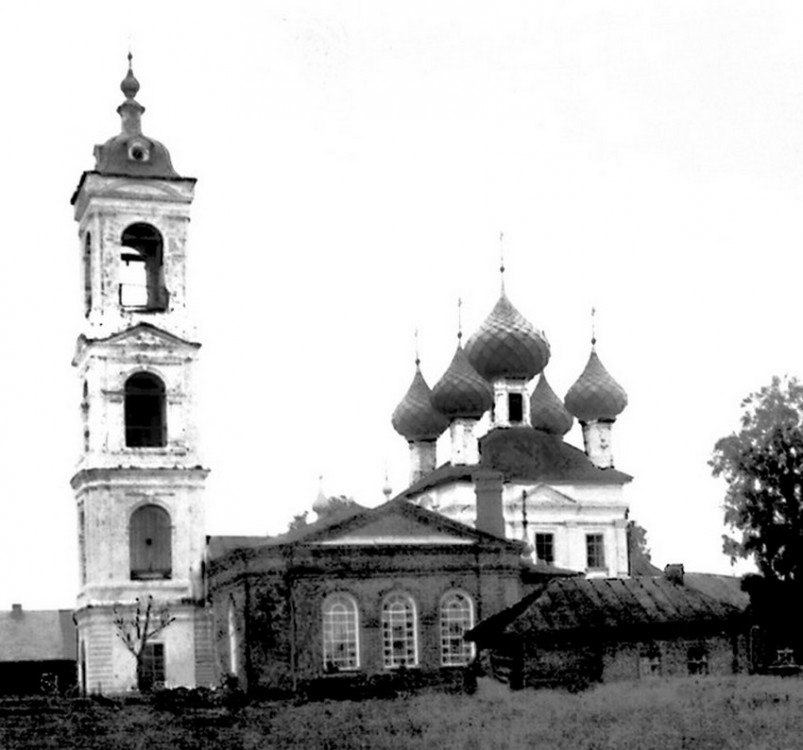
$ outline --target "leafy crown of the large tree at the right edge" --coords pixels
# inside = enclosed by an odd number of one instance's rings
[[[767,582],[803,584],[803,384],[775,377],[743,402],[741,429],[710,461],[724,478],[723,552],[752,558]]]

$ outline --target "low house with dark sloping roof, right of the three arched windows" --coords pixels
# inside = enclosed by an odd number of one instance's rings
[[[747,671],[744,602],[705,579],[685,583],[681,565],[655,577],[555,579],[466,637],[512,687]]]

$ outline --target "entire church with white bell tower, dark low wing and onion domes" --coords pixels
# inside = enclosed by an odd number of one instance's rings
[[[585,370],[558,398],[544,374],[549,343],[504,284],[432,389],[416,361],[391,419],[410,447],[407,489],[371,509],[331,511],[322,499],[318,522],[278,537],[207,536],[186,294],[195,179],[143,134],[130,55],[121,89],[121,132],[95,147],[72,197],[84,282],[72,478],[84,691],[230,675],[286,692],[410,670],[420,684],[457,684],[475,657],[463,636],[482,621],[556,578],[629,575],[631,477],[612,444],[625,391],[592,337]],[[584,450],[564,440],[575,418]],[[135,658],[121,628],[147,629],[137,612],[149,602],[153,634]]]

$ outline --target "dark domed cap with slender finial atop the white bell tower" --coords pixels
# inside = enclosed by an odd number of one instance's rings
[[[95,171],[102,175],[130,177],[178,177],[164,145],[142,134],[143,107],[134,97],[139,81],[131,68],[128,54],[128,73],[120,84],[125,101],[117,108],[122,120],[120,135],[95,146]]]

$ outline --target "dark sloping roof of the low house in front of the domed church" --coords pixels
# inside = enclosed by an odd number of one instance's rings
[[[644,626],[726,624],[742,613],[727,600],[663,576],[557,578],[525,599],[481,622],[467,638],[480,642],[499,635],[537,638],[588,630],[603,634]]]

